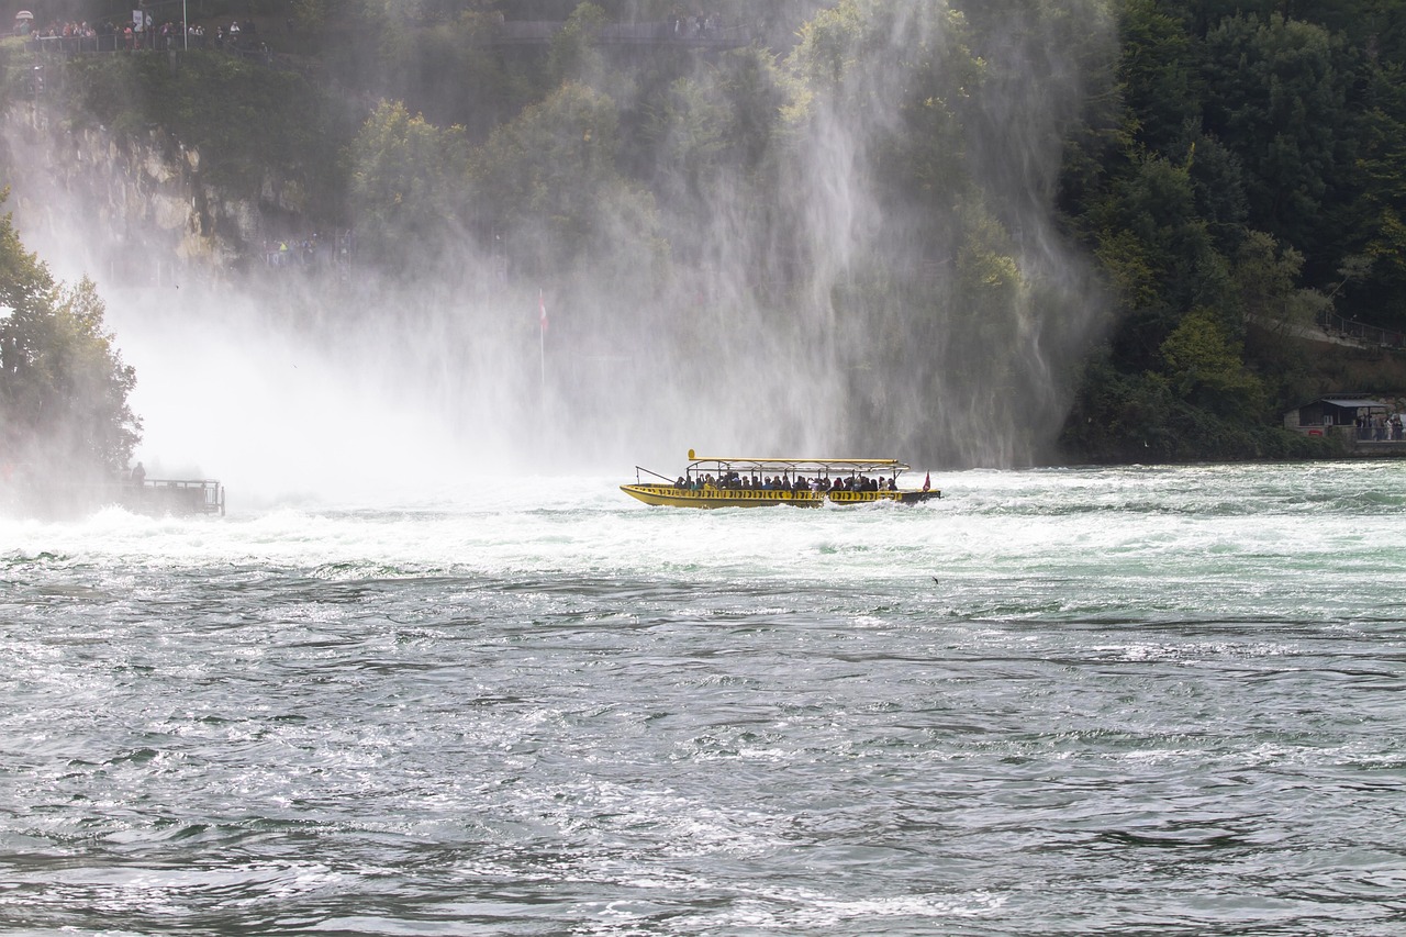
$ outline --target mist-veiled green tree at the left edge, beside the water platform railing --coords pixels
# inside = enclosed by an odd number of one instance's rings
[[[0,200],[3,200],[0,194]],[[127,466],[141,421],[136,383],[104,332],[87,279],[55,283],[0,218],[0,452],[38,478],[91,481]]]

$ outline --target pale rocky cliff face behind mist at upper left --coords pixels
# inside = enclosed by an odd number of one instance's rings
[[[201,179],[200,152],[155,127],[118,139],[25,103],[4,113],[0,142],[6,208],[25,243],[45,260],[62,250],[100,280],[222,279],[262,259],[270,211],[298,208],[273,184],[257,198],[214,189]]]

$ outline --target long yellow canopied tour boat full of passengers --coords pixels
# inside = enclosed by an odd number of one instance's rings
[[[657,471],[634,467],[636,484],[620,491],[645,504],[668,508],[765,508],[789,504],[818,508],[825,504],[896,501],[918,504],[941,498],[928,474],[921,488],[900,488],[908,470],[897,459],[702,459],[689,449],[689,466],[669,480]],[[644,481],[654,476],[659,481]]]

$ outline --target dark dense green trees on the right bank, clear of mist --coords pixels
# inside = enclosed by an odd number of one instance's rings
[[[1268,428],[1329,388],[1277,339],[1329,311],[1406,325],[1406,13],[1123,0],[1119,37],[1114,106],[1071,136],[1062,193],[1115,297],[1066,443],[1104,459],[1298,452]]]

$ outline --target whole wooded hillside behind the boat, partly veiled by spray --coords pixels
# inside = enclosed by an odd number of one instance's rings
[[[377,288],[478,297],[481,355],[530,362],[495,310],[550,293],[581,423],[624,391],[640,425],[688,412],[780,449],[1305,456],[1279,412],[1331,388],[1299,336],[1406,328],[1392,0],[188,11],[254,23],[254,53],[69,56],[53,106],[162,125],[254,198],[277,176],[298,214],[273,236],[353,229]],[[564,27],[502,39],[530,20]]]

